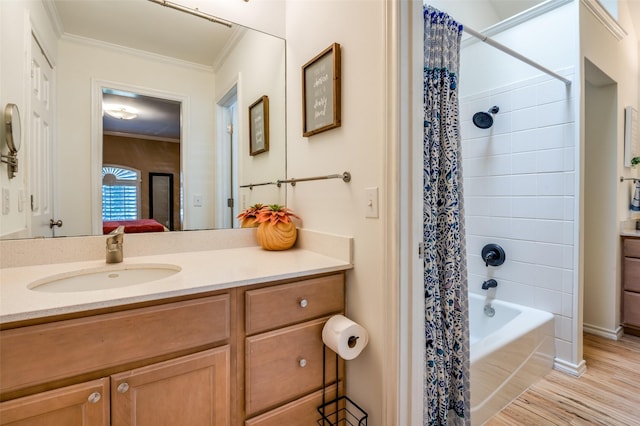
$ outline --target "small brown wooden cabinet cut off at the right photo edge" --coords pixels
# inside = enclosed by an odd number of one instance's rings
[[[640,333],[640,238],[622,239],[622,324]]]

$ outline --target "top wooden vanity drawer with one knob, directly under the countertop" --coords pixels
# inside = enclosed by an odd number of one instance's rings
[[[245,294],[248,335],[344,310],[342,274],[250,290]]]

